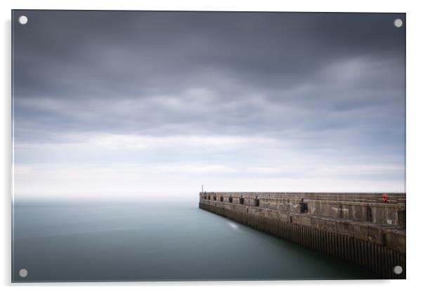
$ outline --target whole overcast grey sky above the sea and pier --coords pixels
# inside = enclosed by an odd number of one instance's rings
[[[404,192],[396,18],[15,11],[15,197]]]

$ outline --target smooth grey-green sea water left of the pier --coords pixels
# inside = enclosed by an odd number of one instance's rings
[[[15,204],[14,218],[13,281],[375,277],[203,211],[196,201],[27,202]]]

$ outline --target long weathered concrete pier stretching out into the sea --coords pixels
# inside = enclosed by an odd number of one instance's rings
[[[382,279],[405,279],[404,193],[200,192],[199,206]]]

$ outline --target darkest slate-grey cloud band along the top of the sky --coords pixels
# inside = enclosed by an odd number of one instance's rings
[[[15,27],[15,81],[22,81],[19,90],[29,82],[30,95],[39,86],[56,98],[138,95],[145,93],[143,87],[169,92],[190,82],[206,83],[214,74],[257,86],[289,86],[329,62],[375,54],[401,60],[404,53],[404,30],[390,23],[403,15],[27,14],[31,27]]]

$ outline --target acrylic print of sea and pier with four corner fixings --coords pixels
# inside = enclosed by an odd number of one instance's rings
[[[405,279],[405,24],[12,11],[12,281]]]

